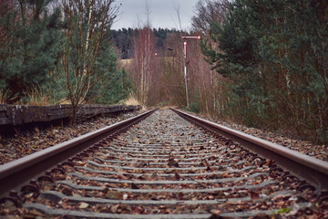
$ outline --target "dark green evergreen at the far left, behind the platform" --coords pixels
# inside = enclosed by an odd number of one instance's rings
[[[60,54],[59,10],[49,0],[8,1],[2,5],[0,89],[3,102],[14,103],[51,79]]]

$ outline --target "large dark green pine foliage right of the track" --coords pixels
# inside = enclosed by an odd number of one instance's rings
[[[210,65],[229,78],[229,113],[247,125],[328,142],[327,24],[327,1],[231,3],[224,23],[210,27],[219,46],[200,43]]]

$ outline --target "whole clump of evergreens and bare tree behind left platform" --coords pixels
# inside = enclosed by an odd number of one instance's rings
[[[109,0],[69,2],[55,8],[52,0],[0,0],[1,102],[70,99],[78,110],[86,101],[128,98],[131,82],[118,70],[110,36],[118,8]]]

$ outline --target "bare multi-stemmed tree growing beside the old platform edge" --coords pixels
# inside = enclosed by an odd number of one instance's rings
[[[115,0],[62,0],[66,42],[61,59],[73,119],[100,79],[94,70],[104,36],[118,14]]]

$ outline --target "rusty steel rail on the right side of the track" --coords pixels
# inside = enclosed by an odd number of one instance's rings
[[[298,151],[292,151],[271,141],[265,141],[238,130],[232,130],[209,120],[202,120],[181,110],[171,110],[200,127],[212,130],[232,141],[238,141],[241,143],[241,146],[246,147],[250,151],[264,158],[272,159],[293,175],[311,183],[319,191],[328,189],[328,162],[323,162]]]

